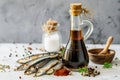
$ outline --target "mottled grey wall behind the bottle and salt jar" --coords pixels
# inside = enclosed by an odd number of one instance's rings
[[[102,44],[110,35],[113,43],[120,43],[120,0],[0,0],[0,42],[41,43],[41,26],[52,18],[66,43],[72,2],[83,3],[93,13],[94,31],[86,43]]]

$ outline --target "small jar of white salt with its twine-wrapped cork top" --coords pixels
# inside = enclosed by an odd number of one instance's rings
[[[51,19],[43,26],[43,46],[47,52],[58,52],[60,50],[61,35],[57,26],[57,21]]]

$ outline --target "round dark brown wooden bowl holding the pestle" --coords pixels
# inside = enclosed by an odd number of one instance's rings
[[[90,60],[96,64],[104,64],[105,62],[111,63],[115,56],[115,51],[109,49],[107,54],[98,55],[102,50],[103,48],[95,48],[88,50]]]

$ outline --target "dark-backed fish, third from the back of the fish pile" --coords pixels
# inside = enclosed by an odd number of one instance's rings
[[[41,61],[38,61],[37,63],[31,65],[25,72],[24,74],[25,75],[30,75],[32,73],[35,73],[37,71],[38,68],[42,68],[45,64],[47,64],[50,60],[50,58],[48,59],[45,59],[45,60],[41,60]]]

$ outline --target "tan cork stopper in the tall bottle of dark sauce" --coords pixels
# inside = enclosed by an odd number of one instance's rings
[[[73,16],[79,16],[82,13],[82,4],[81,3],[70,4],[70,11]]]

